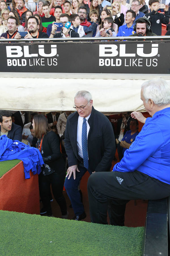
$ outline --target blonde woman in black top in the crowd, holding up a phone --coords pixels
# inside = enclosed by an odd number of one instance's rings
[[[112,18],[114,20],[114,23],[117,24],[119,28],[124,23],[124,14],[120,13],[121,5],[118,1],[115,1],[112,8]]]

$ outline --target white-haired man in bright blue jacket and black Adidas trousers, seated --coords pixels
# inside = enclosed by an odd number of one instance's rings
[[[140,112],[131,117],[144,123],[135,141],[112,172],[88,179],[91,221],[124,226],[126,203],[132,199],[162,199],[170,195],[170,84],[152,79],[142,84],[141,100],[151,117]]]

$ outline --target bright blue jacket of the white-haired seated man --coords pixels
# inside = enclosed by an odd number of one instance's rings
[[[156,112],[145,125],[113,171],[137,170],[170,184],[170,108]]]

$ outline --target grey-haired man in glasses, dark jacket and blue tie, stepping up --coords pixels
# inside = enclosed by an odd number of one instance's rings
[[[74,108],[77,112],[69,115],[65,129],[69,168],[64,186],[75,212],[73,220],[82,220],[86,213],[78,191],[80,180],[86,171],[90,174],[110,171],[115,139],[109,119],[93,108],[90,92],[77,92]]]

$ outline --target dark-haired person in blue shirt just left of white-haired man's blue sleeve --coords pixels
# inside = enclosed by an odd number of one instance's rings
[[[120,146],[123,147],[123,155],[126,149],[130,147],[132,142],[135,141],[136,136],[139,134],[139,124],[137,119],[131,119],[129,127],[130,130],[125,133],[122,141],[120,142]]]

